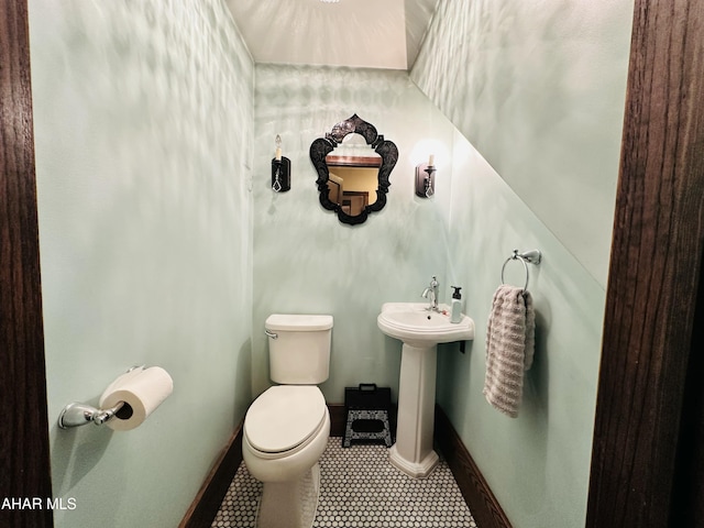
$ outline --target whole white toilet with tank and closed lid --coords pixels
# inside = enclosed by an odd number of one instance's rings
[[[318,461],[330,414],[318,384],[328,380],[332,316],[270,316],[270,377],[244,417],[242,457],[261,481],[257,528],[310,528],[320,491]]]

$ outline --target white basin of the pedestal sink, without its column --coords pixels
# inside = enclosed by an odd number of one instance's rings
[[[428,302],[385,302],[376,323],[386,336],[413,346],[474,339],[474,321],[465,315],[460,322],[452,323],[447,305],[439,306],[440,312],[427,308]]]

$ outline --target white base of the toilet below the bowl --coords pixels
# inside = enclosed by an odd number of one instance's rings
[[[256,512],[257,528],[310,528],[318,509],[320,465],[299,479],[265,482]]]

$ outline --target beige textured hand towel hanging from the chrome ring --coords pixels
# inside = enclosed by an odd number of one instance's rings
[[[522,397],[524,371],[535,350],[536,316],[530,293],[502,285],[494,294],[486,329],[484,396],[502,413],[516,418]]]

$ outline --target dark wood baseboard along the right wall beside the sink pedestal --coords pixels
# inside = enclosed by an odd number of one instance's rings
[[[481,528],[512,528],[508,517],[504,514],[482,472],[472,460],[458,431],[444,411],[437,405],[435,439],[476,525]]]

